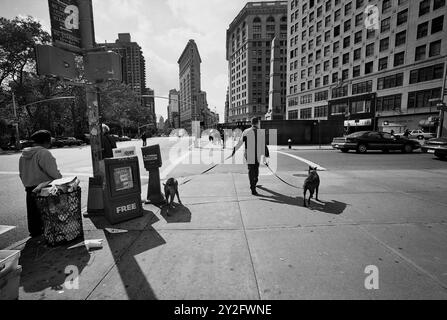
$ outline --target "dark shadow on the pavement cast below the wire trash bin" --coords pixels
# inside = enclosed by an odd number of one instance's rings
[[[30,239],[21,250],[20,264],[23,272],[20,286],[27,293],[41,292],[48,288],[63,291],[64,283],[69,274],[65,274],[67,266],[75,266],[79,273],[90,261],[89,252],[83,248],[67,250],[73,244],[82,242],[79,238],[70,244],[52,248],[44,244],[43,238]],[[42,298],[45,298],[44,294]]]

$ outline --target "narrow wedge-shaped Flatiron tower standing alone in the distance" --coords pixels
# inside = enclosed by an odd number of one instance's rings
[[[180,126],[191,131],[192,121],[203,122],[203,105],[206,94],[201,91],[199,49],[194,40],[189,40],[178,60],[180,78]]]

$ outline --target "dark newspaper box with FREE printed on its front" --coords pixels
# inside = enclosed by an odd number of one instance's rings
[[[104,214],[112,224],[141,217],[141,180],[138,157],[104,159]]]

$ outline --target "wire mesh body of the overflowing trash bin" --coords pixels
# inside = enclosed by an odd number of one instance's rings
[[[50,246],[68,243],[84,235],[81,188],[55,196],[36,196],[36,203],[42,213],[44,238]]]

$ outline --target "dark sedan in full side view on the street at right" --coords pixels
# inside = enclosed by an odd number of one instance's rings
[[[386,132],[362,131],[343,138],[335,138],[332,142],[334,149],[347,153],[355,150],[357,153],[366,153],[368,150],[381,150],[389,152],[399,150],[403,153],[411,153],[420,149],[421,144],[414,140],[392,136]]]

